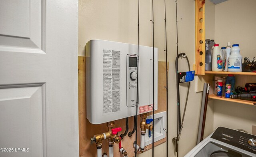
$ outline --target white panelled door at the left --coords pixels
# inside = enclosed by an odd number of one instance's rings
[[[78,2],[0,0],[0,157],[78,157]]]

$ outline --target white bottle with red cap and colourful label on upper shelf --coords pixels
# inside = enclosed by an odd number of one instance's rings
[[[222,55],[220,52],[219,44],[214,44],[212,54],[212,71],[221,72],[222,70]]]

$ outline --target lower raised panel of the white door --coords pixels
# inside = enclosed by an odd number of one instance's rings
[[[0,85],[1,147],[6,145],[23,148],[25,146],[29,149],[28,152],[24,152],[27,157],[46,157],[45,84]],[[12,118],[8,118],[9,116]],[[8,141],[4,141],[6,137]],[[0,154],[11,157],[17,152],[1,152]]]

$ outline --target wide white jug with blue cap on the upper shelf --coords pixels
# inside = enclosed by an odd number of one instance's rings
[[[228,58],[228,72],[242,72],[242,59],[239,44],[232,45],[231,55]]]

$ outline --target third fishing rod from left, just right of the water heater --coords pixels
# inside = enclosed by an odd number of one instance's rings
[[[166,58],[166,156],[168,157],[168,65],[167,65],[167,27],[166,27],[166,0],[164,0],[164,22],[165,22],[165,58]]]

